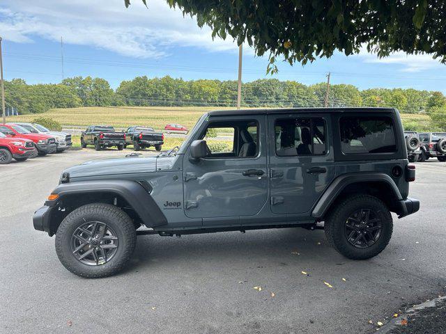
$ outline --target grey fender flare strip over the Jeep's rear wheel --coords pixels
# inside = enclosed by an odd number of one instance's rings
[[[403,198],[392,177],[384,173],[347,173],[334,179],[330,186],[325,189],[323,195],[319,198],[312,210],[312,217],[322,218],[346,186],[361,182],[385,182],[388,184],[390,189],[392,189],[394,197],[397,198],[397,203],[395,204],[401,207],[400,210],[402,212],[404,211],[405,207],[401,205]]]

